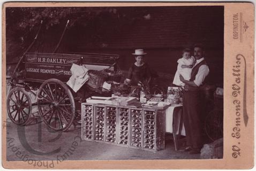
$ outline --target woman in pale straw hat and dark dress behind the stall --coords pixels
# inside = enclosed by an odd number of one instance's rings
[[[129,69],[128,76],[125,79],[126,84],[138,86],[138,83],[142,82],[145,85],[148,85],[151,79],[151,74],[149,66],[143,61],[146,54],[147,53],[145,53],[143,49],[135,49],[135,53],[132,53],[132,55],[135,56],[136,61]]]

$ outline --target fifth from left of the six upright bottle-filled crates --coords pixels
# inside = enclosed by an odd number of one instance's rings
[[[142,120],[142,108],[130,108],[130,147],[138,149],[142,147]]]

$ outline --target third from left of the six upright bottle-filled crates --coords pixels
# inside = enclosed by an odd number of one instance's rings
[[[106,143],[117,144],[117,106],[106,105]]]

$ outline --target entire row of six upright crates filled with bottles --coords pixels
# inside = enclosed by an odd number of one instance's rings
[[[165,110],[82,103],[82,137],[150,151],[165,147]]]

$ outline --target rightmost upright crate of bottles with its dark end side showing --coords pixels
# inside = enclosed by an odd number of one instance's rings
[[[145,150],[159,151],[165,148],[165,110],[144,108],[143,142]]]

